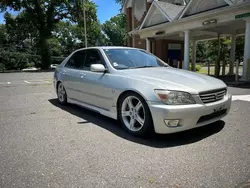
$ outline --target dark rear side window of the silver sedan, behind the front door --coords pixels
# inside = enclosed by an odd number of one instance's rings
[[[83,64],[85,61],[86,52],[85,50],[77,51],[73,56],[69,59],[65,67],[72,69],[83,69]]]

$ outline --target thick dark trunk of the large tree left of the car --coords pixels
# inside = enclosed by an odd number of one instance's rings
[[[40,47],[40,55],[42,61],[41,64],[42,69],[48,69],[49,66],[51,65],[51,54],[47,40],[48,40],[47,37],[40,32],[39,47]]]

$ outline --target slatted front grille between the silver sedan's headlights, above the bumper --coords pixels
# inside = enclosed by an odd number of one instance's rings
[[[217,89],[200,93],[200,98],[204,104],[220,101],[227,93],[227,89]]]

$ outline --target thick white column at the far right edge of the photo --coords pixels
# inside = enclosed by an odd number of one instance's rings
[[[243,65],[243,79],[245,81],[249,80],[250,71],[248,67],[248,75],[247,72],[247,61],[250,59],[250,19],[246,20],[246,31],[245,31],[245,47],[244,47],[244,65]]]

